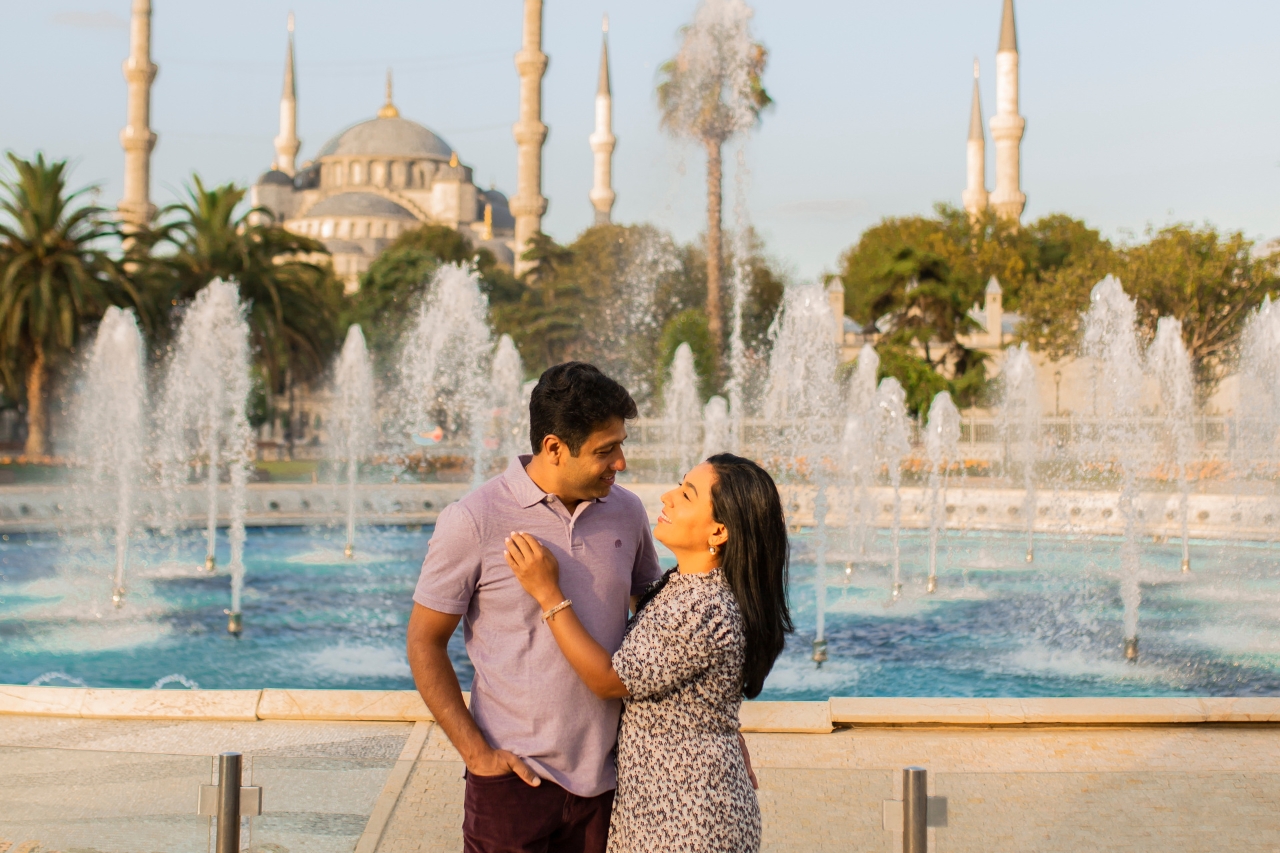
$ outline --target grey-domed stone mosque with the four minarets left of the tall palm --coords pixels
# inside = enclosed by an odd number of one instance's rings
[[[527,266],[520,255],[529,238],[541,231],[547,199],[541,193],[541,79],[547,55],[541,50],[543,0],[524,3],[524,44],[516,54],[520,73],[520,119],[512,131],[518,149],[517,193],[508,201],[495,187],[476,187],[472,168],[438,133],[401,115],[387,77],[387,101],[374,118],[357,122],[325,142],[311,160],[298,164],[298,95],[293,15],[289,15],[280,95],[280,127],[275,158],[250,188],[251,202],[284,228],[324,243],[334,272],[348,292],[360,277],[402,233],[424,224],[447,225],[466,234],[476,248],[488,248],[499,264],[518,274]],[[595,129],[588,140],[594,163],[589,201],[596,223],[607,223],[616,193],[612,187],[613,108],[609,88],[608,19],[604,20],[600,76],[595,95]],[[155,215],[150,199],[151,0],[133,0],[131,51],[124,63],[129,85],[128,124],[120,134],[125,151],[125,227]]]

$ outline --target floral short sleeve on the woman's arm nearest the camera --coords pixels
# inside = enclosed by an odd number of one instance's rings
[[[710,669],[728,649],[732,616],[714,597],[687,607],[650,605],[614,652],[613,671],[632,698],[667,693]]]

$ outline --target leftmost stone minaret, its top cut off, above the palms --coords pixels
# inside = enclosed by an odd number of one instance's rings
[[[151,222],[151,150],[156,134],[151,132],[151,82],[159,70],[151,63],[151,0],[133,0],[129,27],[129,58],[124,60],[124,79],[129,85],[128,124],[120,131],[124,149],[124,197],[120,219],[125,229]]]

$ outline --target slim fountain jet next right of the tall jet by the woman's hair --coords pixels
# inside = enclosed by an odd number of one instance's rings
[[[872,488],[876,485],[876,425],[879,415],[876,405],[876,374],[879,371],[879,356],[876,348],[864,343],[858,352],[858,361],[849,377],[845,391],[845,434],[841,438],[845,478],[849,494],[845,500],[845,515],[849,526],[850,555],[846,573],[852,571],[852,558],[867,558],[867,540],[876,529],[876,502]]]

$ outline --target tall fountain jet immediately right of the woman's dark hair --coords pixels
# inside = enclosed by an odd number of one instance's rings
[[[827,660],[827,512],[831,453],[837,446],[832,412],[838,410],[837,352],[831,336],[831,304],[820,284],[788,287],[769,337],[773,353],[764,392],[764,418],[776,430],[771,456],[792,483],[814,485],[814,592],[817,631],[813,660]]]

